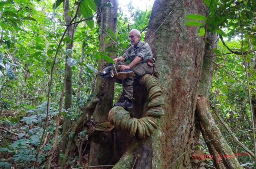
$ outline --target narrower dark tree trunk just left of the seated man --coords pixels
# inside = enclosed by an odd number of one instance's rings
[[[104,4],[105,1],[102,2]],[[104,30],[111,29],[113,34],[117,32],[117,0],[110,0],[112,6],[102,8],[101,13],[101,27]],[[101,30],[100,33],[100,51],[107,51],[108,48],[115,49],[113,42],[106,45],[106,35]],[[112,59],[116,57],[116,53],[111,52]],[[101,61],[100,61],[101,62]],[[104,63],[104,61],[102,62]],[[102,64],[103,65],[103,64]],[[102,69],[102,68],[101,68]],[[98,76],[98,78],[101,78]],[[98,84],[97,84],[98,83]],[[96,122],[102,123],[108,121],[108,112],[113,106],[114,98],[114,82],[111,78],[99,79],[96,81],[96,86],[99,86],[98,97],[100,102],[97,104],[93,114]],[[89,165],[107,165],[111,163],[114,156],[114,139],[112,132],[96,132],[91,138]]]

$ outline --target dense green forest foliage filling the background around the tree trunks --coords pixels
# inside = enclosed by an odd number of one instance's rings
[[[72,58],[67,59],[67,64],[72,68],[72,108],[61,108],[61,113],[68,115],[72,123],[82,113],[79,107],[87,104],[93,96],[98,60],[103,58],[106,62],[112,62],[109,53],[99,51],[100,28],[96,24],[97,18],[94,14],[98,10],[100,0],[70,0],[71,10],[68,15],[71,18],[77,15],[77,21],[86,19],[86,24],[80,22],[76,26],[73,39],[68,36],[62,39],[66,29],[63,1],[0,2],[0,167],[32,167],[40,146],[43,127],[46,125],[50,140],[42,147],[37,159],[40,167],[44,168],[48,152],[52,149],[56,115],[60,109],[66,55],[72,53]],[[250,129],[254,122],[250,104],[254,106],[256,113],[256,2],[204,0],[204,3],[209,8],[209,11],[205,11],[207,17],[188,14],[186,26],[197,26],[198,38],[206,39],[206,32],[218,33],[220,36],[218,48],[214,49],[216,65],[209,99],[233,132]],[[80,8],[76,14],[78,6]],[[111,4],[106,3],[106,7],[109,6]],[[132,16],[123,14],[122,9],[118,11],[118,32],[115,34],[117,38],[112,30],[106,30],[122,49],[129,46],[129,30],[144,30],[151,14],[151,9],[141,11],[130,6],[129,10]],[[145,31],[142,33],[142,39],[144,36]],[[106,37],[106,43],[111,41],[110,37]],[[74,48],[66,50],[65,43],[71,40]],[[84,62],[80,62],[82,42],[86,44]],[[56,51],[59,43],[60,50]],[[118,47],[111,50],[120,56],[122,49]],[[47,90],[56,52],[49,114],[46,117]],[[82,86],[78,91],[80,66]],[[121,88],[116,86],[115,99],[120,90]],[[79,99],[76,98],[77,92],[80,92]],[[71,114],[67,114],[68,111],[71,111]],[[222,134],[227,134],[217,118],[216,122]],[[61,130],[61,126],[59,128]],[[80,132],[79,136],[89,139],[86,131]],[[61,137],[59,133],[58,140]],[[72,137],[72,133],[69,133],[69,137]],[[238,132],[236,137],[248,149],[254,149],[252,132]],[[240,149],[231,137],[226,137],[226,140],[233,150]],[[81,164],[77,160],[76,154],[68,164],[71,167],[80,167]],[[240,157],[239,161],[241,164],[247,163],[248,166],[253,163],[249,156]],[[208,163],[213,165],[212,161]]]

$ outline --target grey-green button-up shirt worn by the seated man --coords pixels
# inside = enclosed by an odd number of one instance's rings
[[[126,53],[128,53],[129,56]],[[122,57],[125,58],[125,61],[129,61],[130,59],[132,59],[131,61],[133,61],[136,56],[139,56],[142,58],[140,63],[144,63],[144,62],[147,62],[148,59],[153,58],[150,46],[148,45],[148,43],[144,41],[139,41],[137,47],[134,47],[134,45],[131,45],[127,49],[126,53],[122,55]]]

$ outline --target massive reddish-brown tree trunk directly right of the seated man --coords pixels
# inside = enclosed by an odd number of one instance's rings
[[[196,145],[198,132],[194,112],[204,41],[198,36],[198,28],[186,27],[184,18],[187,14],[205,15],[205,10],[202,0],[154,2],[146,39],[157,59],[159,82],[166,102],[162,128],[156,130],[152,138],[136,140],[114,168],[124,165],[140,168],[137,163],[144,164],[143,168],[166,168]],[[158,29],[171,11],[173,16],[171,14]],[[137,149],[140,151],[134,153]],[[202,161],[193,162],[191,157],[197,151],[181,156],[170,168],[200,168]]]

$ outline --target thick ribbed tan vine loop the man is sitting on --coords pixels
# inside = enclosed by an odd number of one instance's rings
[[[162,105],[164,98],[159,87],[158,80],[151,75],[144,75],[141,83],[148,92],[148,111],[143,118],[131,118],[130,113],[120,106],[116,106],[108,113],[108,120],[118,130],[130,132],[135,136],[138,131],[139,138],[145,138],[153,134],[154,129],[159,127],[159,119],[164,115]]]

